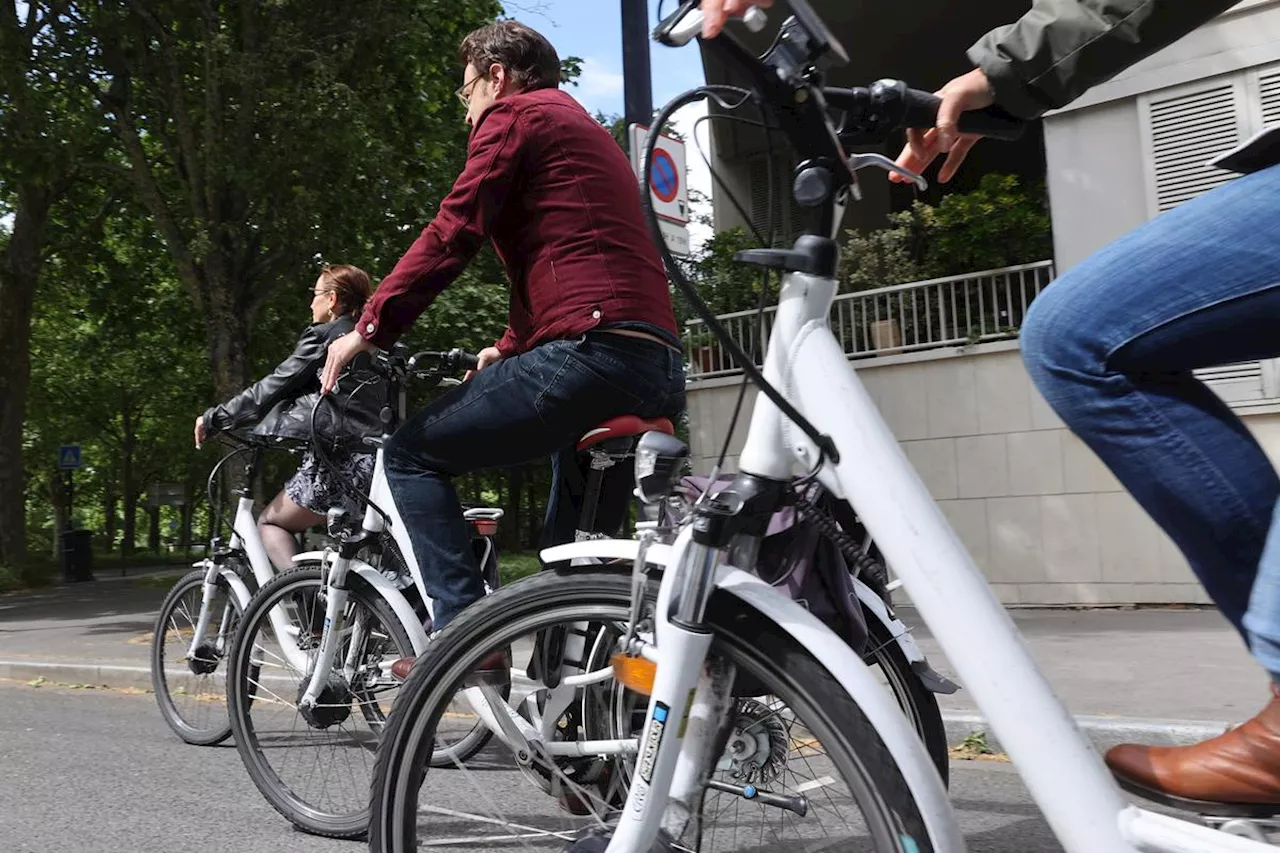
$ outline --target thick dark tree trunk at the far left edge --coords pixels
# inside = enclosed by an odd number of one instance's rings
[[[0,501],[0,565],[8,566],[27,561],[22,428],[31,387],[31,313],[52,199],[47,186],[18,187],[13,233],[0,255],[0,494],[6,496]]]

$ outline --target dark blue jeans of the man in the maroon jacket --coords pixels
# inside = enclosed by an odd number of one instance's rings
[[[681,353],[593,332],[506,359],[411,418],[387,443],[387,480],[434,599],[433,628],[484,596],[454,476],[557,453],[611,418],[684,409]]]

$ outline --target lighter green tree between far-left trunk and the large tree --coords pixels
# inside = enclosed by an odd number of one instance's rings
[[[54,534],[65,525],[51,460],[58,444],[76,441],[86,464],[77,473],[77,516],[91,520],[108,547],[119,539],[128,556],[148,484],[177,480],[195,491],[191,423],[211,383],[201,318],[150,218],[92,190],[81,195],[95,196],[101,213],[77,218],[83,238],[50,261],[35,316],[27,450],[31,492],[47,500],[28,502],[28,523]],[[157,511],[151,515],[154,534]]]

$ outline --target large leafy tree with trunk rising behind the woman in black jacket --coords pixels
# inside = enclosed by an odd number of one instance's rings
[[[218,394],[319,259],[389,269],[465,154],[456,45],[495,1],[81,4],[79,79],[205,323]],[[448,46],[442,50],[442,46]]]

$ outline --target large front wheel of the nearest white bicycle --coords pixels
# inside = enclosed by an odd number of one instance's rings
[[[649,592],[652,601],[657,585]],[[602,638],[616,638],[630,599],[630,573],[548,571],[472,605],[451,624],[388,721],[374,774],[370,849],[559,850],[584,829],[607,826],[625,802],[645,701],[598,678],[604,672],[593,661],[608,660],[600,647],[609,640]],[[879,734],[813,656],[728,594],[713,596],[707,622],[710,656],[754,686],[753,695],[735,699],[700,817],[675,849],[932,850]],[[557,630],[580,631],[591,649],[579,658],[585,671],[573,679],[572,697],[563,680],[548,686],[547,666],[532,660],[544,648],[534,638]],[[468,672],[506,647],[517,672],[529,661],[529,678],[516,679],[513,711],[553,731],[552,739],[532,756],[515,756],[495,738],[467,766],[429,767]],[[566,665],[575,662],[566,656]],[[552,725],[548,713],[556,715]],[[575,748],[575,740],[591,743]]]

